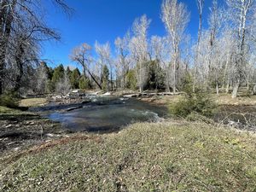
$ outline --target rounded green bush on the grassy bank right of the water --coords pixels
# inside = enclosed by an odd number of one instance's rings
[[[190,113],[198,113],[203,116],[212,116],[216,109],[216,104],[212,97],[204,90],[195,88],[190,78],[186,80],[183,90],[184,96],[176,103],[170,105],[170,113],[179,117],[187,117]]]

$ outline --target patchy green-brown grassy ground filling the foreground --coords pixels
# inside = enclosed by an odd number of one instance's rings
[[[256,140],[191,122],[76,134],[0,162],[0,191],[256,191]]]

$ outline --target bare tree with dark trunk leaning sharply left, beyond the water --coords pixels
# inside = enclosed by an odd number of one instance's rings
[[[83,67],[84,79],[86,79],[86,72],[88,72],[90,75],[90,78],[93,79],[93,81],[97,84],[97,86],[102,90],[102,85],[98,83],[93,73],[90,72],[90,63],[92,61],[90,50],[91,50],[91,47],[89,44],[85,44],[85,43],[81,44],[72,50],[70,59],[72,61],[79,63],[79,65]]]

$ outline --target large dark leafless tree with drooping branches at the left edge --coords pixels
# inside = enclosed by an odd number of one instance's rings
[[[58,7],[68,12],[68,7],[62,0],[52,0]],[[30,65],[35,58],[27,58],[26,50],[44,40],[55,38],[55,32],[44,24],[44,3],[31,0],[0,1],[0,95],[3,93],[3,80],[6,68],[15,61],[19,74],[15,89],[19,88],[20,79],[24,73],[24,63]],[[45,36],[47,38],[45,38]],[[37,57],[38,55],[33,55]],[[32,61],[30,61],[32,59]]]

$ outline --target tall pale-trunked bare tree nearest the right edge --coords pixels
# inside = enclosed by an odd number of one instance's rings
[[[236,39],[238,51],[235,62],[235,77],[232,98],[236,98],[241,80],[243,78],[244,67],[247,63],[247,39],[251,31],[250,23],[253,20],[255,11],[254,0],[226,0],[230,8],[230,19],[236,27]]]

